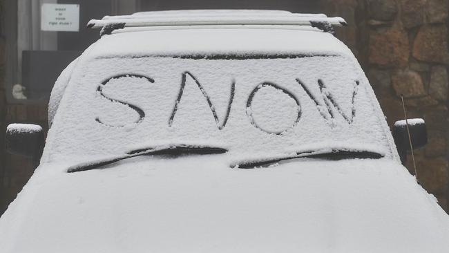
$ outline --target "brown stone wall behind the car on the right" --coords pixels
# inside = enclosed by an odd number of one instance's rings
[[[409,117],[426,120],[417,177],[448,212],[448,0],[323,0],[323,8],[347,20],[337,37],[361,62],[390,127],[404,117],[401,94]],[[414,174],[411,159],[407,167]]]

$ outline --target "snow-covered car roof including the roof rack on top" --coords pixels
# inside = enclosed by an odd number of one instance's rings
[[[106,16],[90,55],[352,55],[332,36],[340,17],[285,10],[166,10]],[[325,32],[323,32],[325,31]]]

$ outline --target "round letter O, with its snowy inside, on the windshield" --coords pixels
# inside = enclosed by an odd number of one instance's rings
[[[249,94],[247,116],[257,129],[279,135],[298,124],[301,107],[298,99],[285,88],[265,82]]]

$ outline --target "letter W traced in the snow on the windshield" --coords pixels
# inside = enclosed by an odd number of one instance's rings
[[[354,116],[356,115],[356,109],[354,107],[354,100],[359,88],[359,81],[356,81],[354,85],[354,90],[352,91],[351,99],[351,113],[343,112],[341,106],[334,100],[334,96],[330,93],[329,89],[325,86],[324,82],[321,79],[318,79],[318,86],[320,87],[321,97],[313,95],[309,88],[300,81],[300,79],[296,79],[296,82],[303,87],[305,93],[309,95],[309,97],[315,102],[318,111],[323,116],[323,118],[327,121],[332,121],[336,114],[340,114],[347,122],[347,124],[352,124],[354,121]],[[348,115],[349,114],[349,115]]]

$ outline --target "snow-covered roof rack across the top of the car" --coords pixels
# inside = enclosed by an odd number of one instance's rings
[[[271,25],[312,26],[324,32],[334,33],[334,26],[346,26],[341,17],[324,14],[299,14],[273,10],[185,10],[137,12],[126,16],[106,16],[92,19],[88,28],[101,28],[100,35],[128,27],[163,26],[227,26],[227,25]]]

